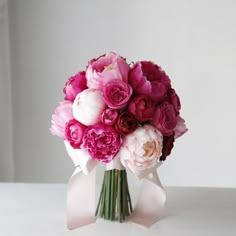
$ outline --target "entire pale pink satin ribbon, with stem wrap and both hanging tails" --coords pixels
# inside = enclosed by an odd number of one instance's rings
[[[91,159],[85,150],[73,149],[67,141],[65,146],[76,167],[70,178],[67,192],[67,226],[68,229],[74,229],[96,222],[94,213],[98,162]],[[145,227],[150,227],[158,221],[166,200],[166,194],[156,172],[157,167],[148,172],[137,172],[128,166],[142,180],[136,206],[129,220]],[[123,170],[125,167],[120,163],[119,158],[115,158],[106,165],[106,170],[111,169]]]

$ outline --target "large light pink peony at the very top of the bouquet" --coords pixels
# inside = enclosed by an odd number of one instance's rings
[[[86,70],[87,86],[102,89],[110,80],[120,79],[128,82],[129,65],[124,58],[110,52],[89,62]]]

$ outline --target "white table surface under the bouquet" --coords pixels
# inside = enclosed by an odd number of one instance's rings
[[[235,236],[236,189],[166,188],[162,218],[151,228],[98,219],[66,228],[66,185],[0,184],[0,236]],[[85,203],[86,204],[86,203]]]

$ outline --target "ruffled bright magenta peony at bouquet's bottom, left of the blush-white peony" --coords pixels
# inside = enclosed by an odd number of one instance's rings
[[[112,126],[97,124],[85,131],[82,145],[93,159],[107,163],[118,153],[121,138]]]

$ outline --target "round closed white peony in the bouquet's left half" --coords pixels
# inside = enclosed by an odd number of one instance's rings
[[[76,96],[73,103],[73,115],[83,125],[95,125],[100,121],[105,107],[100,91],[86,89]]]

